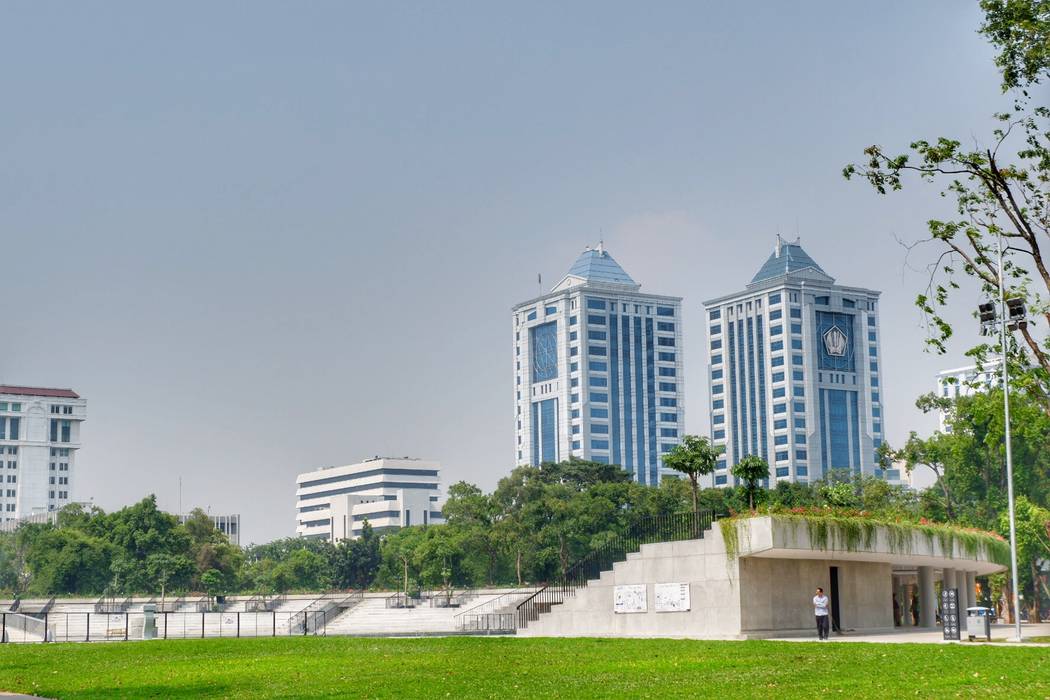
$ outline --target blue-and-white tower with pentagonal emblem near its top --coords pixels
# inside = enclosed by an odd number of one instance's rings
[[[705,302],[712,439],[726,448],[714,485],[748,454],[771,482],[883,475],[879,294],[836,284],[777,236],[743,292]]]

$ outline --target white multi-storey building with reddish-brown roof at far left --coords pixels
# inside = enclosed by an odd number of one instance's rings
[[[0,384],[0,523],[71,502],[86,412],[71,389]]]

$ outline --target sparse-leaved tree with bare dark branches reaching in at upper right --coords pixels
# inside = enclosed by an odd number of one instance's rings
[[[1050,336],[1041,339],[1034,327],[1040,318],[1050,324],[1050,261],[1044,250],[1050,236],[1050,109],[1032,105],[1027,92],[1050,77],[1050,2],[982,0],[981,6],[985,22],[980,30],[999,49],[1003,90],[1016,96],[1012,110],[996,115],[1000,127],[990,145],[964,148],[960,140],[942,136],[914,142],[910,155],[892,155],[874,145],[864,150],[866,161],[847,165],[843,175],[863,177],[880,194],[902,189],[911,175],[940,183],[942,196],[954,198],[958,216],[930,219],[929,237],[919,241],[934,248],[926,289],[916,299],[930,332],[928,347],[946,351],[953,328],[942,311],[963,280],[998,300],[1002,277],[1006,297],[1026,300],[1032,312],[1031,323],[1011,327],[1005,352],[1012,374],[1018,387],[1031,391],[1050,413]],[[1007,156],[1015,142],[1014,155]],[[1005,247],[1002,270],[1000,238]],[[966,303],[971,298],[967,295]],[[980,344],[968,354],[980,361],[1002,349]]]

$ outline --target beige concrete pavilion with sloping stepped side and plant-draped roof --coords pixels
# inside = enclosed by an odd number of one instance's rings
[[[804,524],[769,516],[737,522],[737,544],[727,551],[719,525],[702,539],[643,545],[626,561],[576,591],[551,612],[529,622],[528,636],[762,638],[816,633],[813,595],[819,586],[832,599],[832,613],[844,630],[892,631],[896,574],[918,572],[922,627],[933,627],[934,580],[959,580],[1003,571],[982,552],[968,556],[958,545],[944,551],[940,542],[918,533],[898,543],[878,528],[869,546],[850,550],[835,543],[822,549]],[[940,574],[940,576],[938,576]],[[658,585],[685,587],[687,610],[660,612]],[[645,612],[614,611],[617,587],[643,587]],[[621,589],[623,590],[623,589]],[[640,591],[640,589],[638,589]],[[961,587],[967,604],[973,588]]]

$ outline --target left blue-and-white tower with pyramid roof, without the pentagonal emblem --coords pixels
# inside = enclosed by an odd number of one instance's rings
[[[681,298],[639,290],[598,243],[513,307],[518,464],[575,457],[659,482],[685,429]]]

